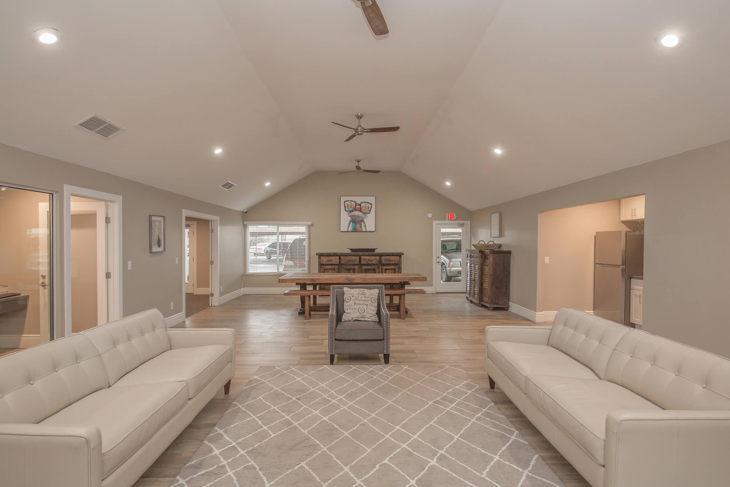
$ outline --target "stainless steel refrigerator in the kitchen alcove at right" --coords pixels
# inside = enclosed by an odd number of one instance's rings
[[[644,234],[596,231],[594,256],[593,314],[633,328],[629,277],[644,275]]]

